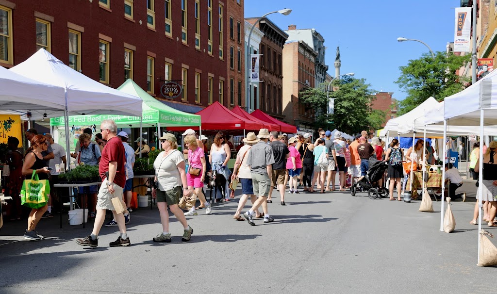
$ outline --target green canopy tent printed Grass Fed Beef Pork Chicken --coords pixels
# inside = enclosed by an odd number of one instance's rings
[[[200,115],[191,114],[174,109],[152,97],[144,91],[132,79],[127,79],[118,90],[142,98],[143,116],[125,115],[75,115],[69,117],[69,126],[99,125],[103,120],[114,120],[118,127],[157,127],[158,137],[161,134],[161,127],[199,127],[201,126]],[[54,127],[64,127],[64,117],[50,119],[50,125]]]

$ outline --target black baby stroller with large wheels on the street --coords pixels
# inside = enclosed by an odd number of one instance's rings
[[[357,183],[353,183],[350,188],[350,194],[355,196],[359,191],[368,191],[368,196],[371,199],[376,199],[378,196],[385,198],[388,195],[388,190],[385,187],[379,187],[378,181],[388,168],[388,162],[376,159],[376,156],[369,157],[369,169],[366,175]],[[357,187],[359,185],[359,187]]]

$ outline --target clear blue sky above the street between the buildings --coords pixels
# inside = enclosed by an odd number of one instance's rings
[[[376,91],[406,97],[394,81],[400,66],[428,49],[421,43],[399,43],[398,37],[418,39],[436,51],[454,41],[454,7],[460,0],[245,0],[245,17],[258,17],[283,8],[292,13],[269,15],[281,29],[315,28],[325,38],[328,73],[334,75],[335,49],[340,43],[340,74],[355,73]]]

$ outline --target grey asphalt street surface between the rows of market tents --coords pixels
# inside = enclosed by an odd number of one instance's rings
[[[240,193],[240,191],[238,191]],[[97,248],[76,244],[86,228],[42,220],[45,239],[24,241],[25,221],[0,231],[0,293],[494,293],[496,268],[476,266],[473,202],[454,202],[456,231],[439,231],[435,213],[410,204],[371,200],[367,193],[273,197],[272,223],[235,221],[235,201],[189,217],[190,242],[171,218],[171,243],[157,208],[132,213],[131,247],[110,248],[117,227],[103,227]],[[246,211],[248,206],[246,206]],[[67,219],[67,216],[65,216]],[[484,225],[490,232],[496,228]],[[497,244],[497,240],[492,240]]]

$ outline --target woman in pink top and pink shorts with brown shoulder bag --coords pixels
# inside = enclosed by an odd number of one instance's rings
[[[204,150],[198,147],[197,138],[193,135],[185,137],[184,142],[188,147],[188,172],[186,173],[186,182],[188,183],[188,190],[193,193],[200,200],[200,206],[197,208],[204,208],[207,215],[211,214],[211,206],[205,199],[202,188],[204,187],[205,180],[205,154]],[[202,205],[203,204],[203,205]],[[193,206],[185,216],[196,216],[197,210]]]

